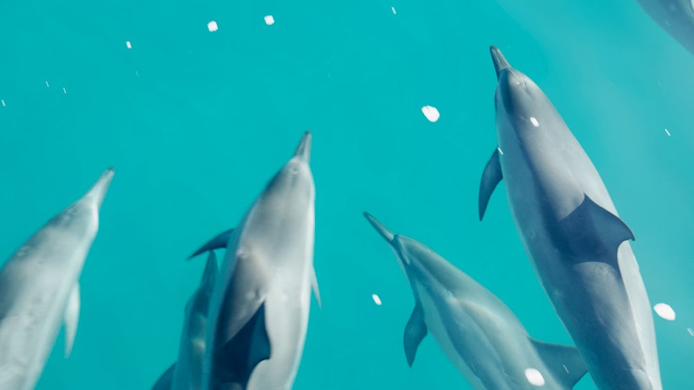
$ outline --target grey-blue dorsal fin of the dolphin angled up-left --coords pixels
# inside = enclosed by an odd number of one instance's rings
[[[545,363],[545,367],[552,371],[554,377],[564,384],[566,389],[573,389],[588,372],[583,357],[575,347],[545,343],[532,337],[528,339]]]

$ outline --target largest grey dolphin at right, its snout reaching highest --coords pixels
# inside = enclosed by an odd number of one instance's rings
[[[498,147],[482,174],[480,221],[505,180],[527,256],[598,388],[662,389],[632,230],[548,97],[495,46],[491,57]]]

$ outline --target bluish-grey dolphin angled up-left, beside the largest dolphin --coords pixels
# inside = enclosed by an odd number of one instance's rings
[[[405,327],[405,357],[412,366],[428,332],[476,390],[572,389],[586,365],[572,346],[532,339],[518,317],[473,278],[419,241],[394,235],[364,212],[398,257],[412,294],[414,310]]]

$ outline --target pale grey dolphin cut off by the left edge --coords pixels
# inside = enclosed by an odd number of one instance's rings
[[[62,323],[69,357],[80,312],[78,280],[113,172],[106,169],[82,198],[46,222],[0,269],[0,389],[35,387]]]

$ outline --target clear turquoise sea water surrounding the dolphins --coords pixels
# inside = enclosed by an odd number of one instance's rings
[[[654,314],[663,386],[694,382],[694,57],[635,2],[2,8],[0,259],[116,169],[73,353],[64,359],[61,334],[37,389],[149,389],[176,358],[203,271],[185,257],[236,225],[305,129],[323,308],[313,300],[294,389],[471,388],[431,337],[407,366],[412,294],[364,210],[490,289],[533,337],[570,344],[501,193],[477,219],[496,147],[490,44],[552,99],[636,235],[652,305],[677,312]],[[575,389],[595,386],[586,375]]]

